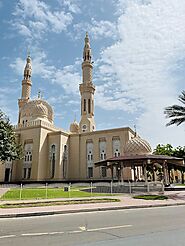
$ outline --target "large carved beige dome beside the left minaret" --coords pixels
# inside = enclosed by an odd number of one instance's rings
[[[43,99],[35,99],[26,103],[20,112],[21,119],[37,120],[45,119],[53,123],[53,109]]]

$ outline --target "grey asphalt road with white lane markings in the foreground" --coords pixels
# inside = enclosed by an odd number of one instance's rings
[[[1,246],[184,246],[185,206],[0,219]]]

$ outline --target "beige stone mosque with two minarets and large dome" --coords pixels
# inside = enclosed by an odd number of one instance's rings
[[[79,85],[81,120],[71,123],[69,131],[65,131],[54,126],[53,109],[40,94],[37,99],[31,99],[32,64],[28,55],[15,127],[17,140],[24,149],[24,158],[13,162],[9,160],[0,166],[1,182],[105,180],[111,179],[112,175],[117,177],[116,169],[112,173],[105,166],[95,168],[94,163],[123,156],[135,132],[129,127],[96,130],[92,74],[91,48],[86,33],[82,83]],[[141,150],[151,153],[150,145],[139,137],[137,139]],[[135,146],[138,147],[137,144]],[[124,169],[124,180],[132,179],[133,175],[131,168]]]

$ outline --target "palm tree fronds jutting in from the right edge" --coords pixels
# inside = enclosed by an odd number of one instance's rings
[[[179,96],[179,101],[185,105],[185,91],[182,91],[182,94]],[[176,124],[177,126],[185,122],[185,106],[172,105],[166,107],[164,110],[166,118],[172,118],[166,126]]]

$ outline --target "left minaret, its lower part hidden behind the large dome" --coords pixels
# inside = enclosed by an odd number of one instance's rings
[[[30,99],[31,94],[31,73],[32,73],[32,65],[31,65],[31,57],[28,54],[28,57],[26,59],[26,66],[24,68],[24,79],[22,80],[22,96],[20,99],[18,99],[18,105],[19,105],[19,119],[18,123],[20,123],[20,110],[26,104]]]

